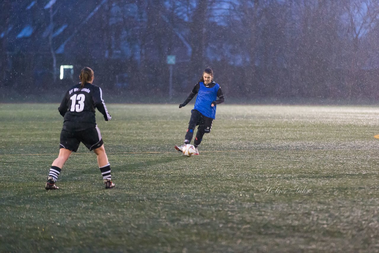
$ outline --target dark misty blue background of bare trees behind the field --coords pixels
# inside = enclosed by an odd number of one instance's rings
[[[181,103],[208,66],[226,102],[379,98],[376,0],[2,0],[0,7],[0,102],[59,102],[84,66],[106,102]]]

